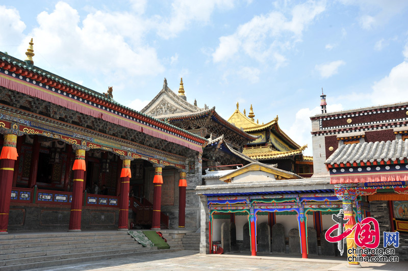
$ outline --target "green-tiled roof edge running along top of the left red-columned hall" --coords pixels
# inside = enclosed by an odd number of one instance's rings
[[[18,67],[19,69],[27,70],[27,71],[29,71],[31,73],[38,74],[40,77],[47,78],[48,80],[52,80],[53,82],[61,84],[62,86],[66,86],[68,89],[71,88],[71,89],[76,90],[78,92],[85,93],[85,94],[89,95],[91,98],[95,98],[96,103],[104,102],[104,103],[112,104],[112,105],[114,105],[114,106],[116,106],[118,108],[117,111],[124,110],[124,111],[127,111],[127,112],[132,112],[132,113],[135,113],[137,115],[140,115],[141,117],[146,118],[147,119],[146,122],[149,122],[149,120],[152,121],[152,122],[157,122],[157,123],[160,123],[164,128],[167,127],[167,129],[172,128],[172,129],[177,130],[178,131],[177,133],[182,132],[182,133],[188,134],[189,137],[199,139],[201,142],[206,142],[207,141],[207,139],[202,138],[200,136],[197,136],[197,134],[191,133],[191,132],[186,131],[184,129],[181,129],[181,128],[177,127],[177,126],[174,126],[174,125],[171,125],[171,124],[169,124],[167,122],[164,122],[162,120],[159,120],[159,119],[153,118],[153,117],[151,117],[149,115],[138,112],[138,111],[136,111],[134,109],[131,109],[130,107],[124,106],[124,105],[116,102],[113,99],[105,97],[105,95],[103,95],[103,94],[101,94],[99,92],[96,92],[94,90],[91,90],[89,88],[81,86],[81,85],[79,85],[77,83],[74,83],[74,82],[72,82],[72,81],[70,81],[68,79],[65,79],[65,78],[63,78],[61,76],[58,76],[58,75],[56,75],[54,73],[43,70],[43,69],[41,69],[39,67],[28,65],[24,61],[21,61],[21,60],[19,60],[17,58],[6,55],[3,52],[0,52],[0,61],[7,62],[10,65]]]

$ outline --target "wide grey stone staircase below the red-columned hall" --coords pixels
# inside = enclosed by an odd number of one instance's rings
[[[183,250],[144,248],[126,231],[18,233],[0,235],[0,271],[26,270],[85,261]]]

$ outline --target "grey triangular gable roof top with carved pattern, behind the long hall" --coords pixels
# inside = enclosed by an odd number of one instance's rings
[[[167,79],[164,78],[163,89],[140,112],[164,118],[176,113],[194,113],[205,110],[189,103],[183,97],[185,98],[185,96],[175,94],[167,86]]]

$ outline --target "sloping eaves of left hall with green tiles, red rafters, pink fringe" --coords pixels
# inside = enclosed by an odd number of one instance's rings
[[[121,105],[103,94],[0,52],[0,86],[202,151],[205,138]],[[10,74],[9,74],[10,73]],[[11,76],[14,74],[15,76]],[[27,81],[27,82],[26,82]],[[20,87],[23,86],[23,87]],[[148,127],[147,127],[148,126]],[[186,138],[186,139],[184,139]],[[191,142],[191,143],[189,143]],[[194,143],[196,142],[196,143]],[[200,143],[202,144],[202,143]],[[190,147],[191,147],[190,146]]]

